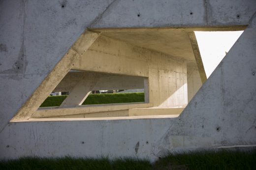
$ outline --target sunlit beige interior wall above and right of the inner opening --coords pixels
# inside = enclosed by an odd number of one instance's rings
[[[100,36],[72,69],[148,77],[149,102],[154,106],[188,103],[186,61],[158,51]]]

